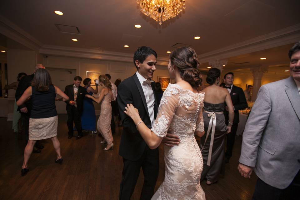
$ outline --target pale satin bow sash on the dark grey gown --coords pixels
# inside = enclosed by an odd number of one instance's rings
[[[205,142],[203,144],[203,147],[201,149],[201,151],[203,150],[205,143],[207,141],[208,135],[210,133],[210,130],[212,130],[212,136],[210,139],[210,144],[209,144],[209,150],[208,150],[208,158],[207,158],[207,166],[210,166],[210,161],[212,159],[212,145],[213,145],[213,138],[215,137],[215,130],[216,130],[216,114],[223,114],[223,112],[208,112],[208,111],[203,111],[205,113],[208,113],[208,117],[210,117],[209,120],[209,124],[208,124],[208,129],[207,129],[207,133],[206,133],[206,138],[205,138]]]

